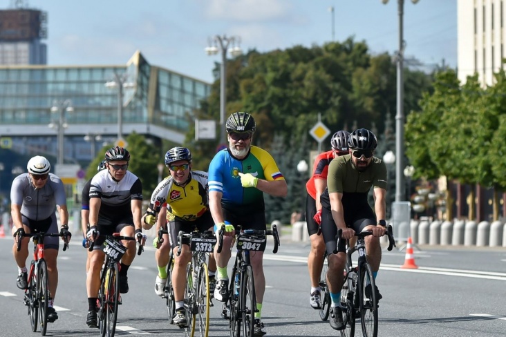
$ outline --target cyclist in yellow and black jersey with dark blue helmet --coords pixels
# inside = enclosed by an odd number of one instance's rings
[[[169,168],[171,176],[162,180],[151,195],[149,208],[143,215],[144,229],[150,229],[157,221],[158,213],[167,213],[169,234],[156,251],[156,263],[158,275],[156,276],[155,292],[162,296],[167,282],[167,264],[169,263],[170,249],[174,251],[174,271],[172,284],[174,287],[174,300],[176,313],[174,324],[186,325],[185,300],[186,266],[191,260],[189,246],[182,244],[180,256],[176,256],[178,248],[178,233],[183,231],[190,233],[194,229],[198,231],[212,230],[214,222],[209,213],[207,202],[207,173],[191,170],[191,153],[187,148],[171,148],[165,154],[165,165]],[[168,239],[168,240],[167,240]],[[153,242],[158,247],[158,242]],[[216,262],[209,258],[209,287],[214,291],[214,273]]]

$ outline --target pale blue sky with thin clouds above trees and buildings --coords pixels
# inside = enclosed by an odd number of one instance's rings
[[[0,1],[12,8],[13,0]],[[456,0],[405,0],[406,57],[457,64]],[[140,50],[150,64],[213,81],[214,35],[237,35],[260,52],[355,36],[371,52],[398,48],[397,0],[25,0],[48,12],[48,64],[126,64]]]

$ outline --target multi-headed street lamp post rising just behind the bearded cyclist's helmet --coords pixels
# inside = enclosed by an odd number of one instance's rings
[[[216,55],[218,51],[221,50],[221,67],[220,67],[220,144],[225,144],[225,108],[227,105],[227,96],[225,90],[227,88],[227,76],[226,76],[226,68],[227,68],[227,51],[230,52],[230,55],[233,57],[239,56],[243,54],[243,50],[241,47],[236,44],[241,44],[241,37],[227,37],[227,35],[216,35],[212,40],[214,46],[207,46],[204,50],[207,55]],[[231,48],[228,48],[231,46]],[[219,48],[218,48],[219,47]]]

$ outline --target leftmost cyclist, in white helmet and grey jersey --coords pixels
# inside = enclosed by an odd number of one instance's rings
[[[62,224],[60,233],[67,235],[68,232],[68,211],[64,184],[59,177],[49,173],[51,164],[40,155],[32,157],[26,166],[28,173],[21,173],[15,177],[10,188],[10,213],[12,216],[12,233],[21,231],[31,233],[32,231],[44,231],[47,233],[58,233],[58,224],[55,209],[58,210],[59,220]],[[62,238],[63,239],[63,238]],[[27,269],[26,259],[28,258],[28,242],[30,238],[25,237],[21,241],[21,250],[17,251],[17,242],[12,247],[12,253],[18,266],[17,287],[26,289]],[[50,298],[48,301],[48,322],[58,319],[58,314],[53,307],[56,289],[58,286],[57,256],[59,240],[57,237],[44,239],[44,255],[48,265],[48,286]]]

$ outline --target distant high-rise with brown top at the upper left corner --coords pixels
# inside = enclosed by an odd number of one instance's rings
[[[0,10],[0,65],[47,64],[46,37],[46,12]]]

